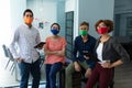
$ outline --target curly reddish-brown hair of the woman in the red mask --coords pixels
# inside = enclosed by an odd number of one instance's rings
[[[99,21],[97,21],[97,23],[95,24],[96,31],[97,31],[97,26],[101,22],[103,22],[106,24],[106,26],[110,28],[109,31],[108,31],[108,33],[111,32],[111,31],[113,31],[113,21],[111,21],[111,20],[99,20]]]

